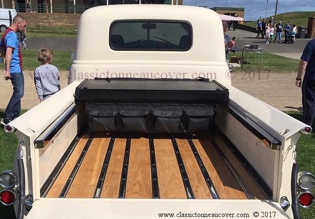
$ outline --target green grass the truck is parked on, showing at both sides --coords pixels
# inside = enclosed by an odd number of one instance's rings
[[[25,110],[22,110],[25,112]],[[0,117],[3,116],[4,109],[0,109]],[[288,115],[301,120],[302,113],[296,111],[286,112]],[[315,127],[313,127],[315,130]],[[13,170],[13,160],[17,148],[17,138],[14,133],[7,134],[0,129],[0,172],[4,170]],[[315,134],[302,135],[298,140],[298,164],[299,171],[309,171],[315,173]],[[1,189],[1,188],[0,188]],[[314,189],[313,189],[314,190]],[[314,191],[312,191],[314,193]],[[301,209],[302,219],[314,219],[315,207],[310,209]],[[12,206],[4,206],[0,204],[0,219],[15,219],[14,210]]]

